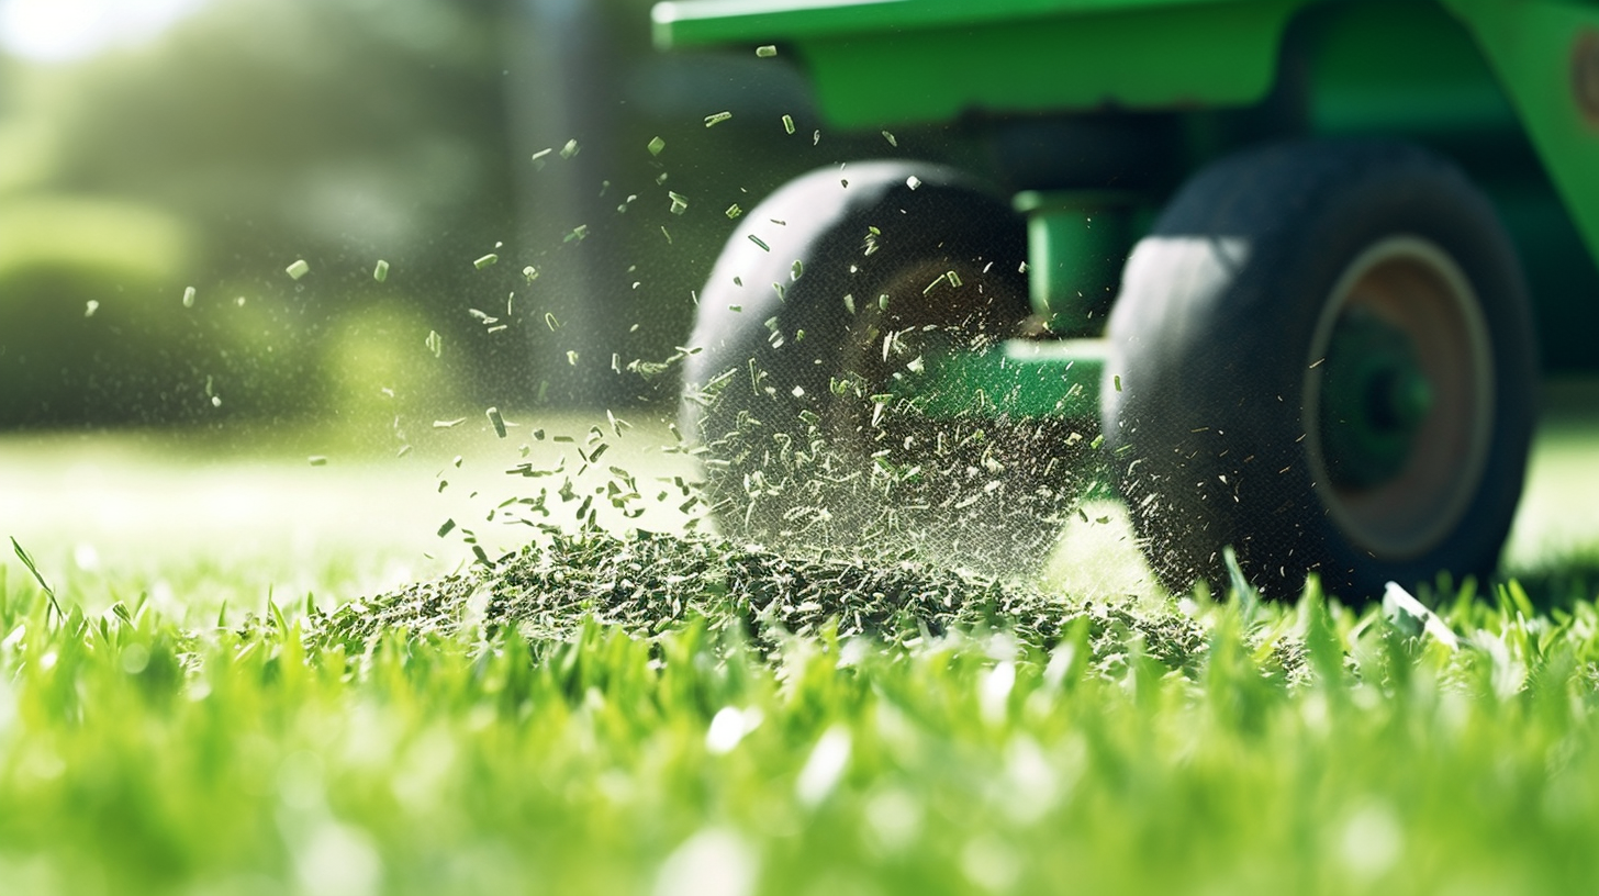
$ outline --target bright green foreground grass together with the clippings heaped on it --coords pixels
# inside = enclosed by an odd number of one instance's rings
[[[614,578],[561,576],[574,557],[604,573],[664,554],[702,568],[667,626],[632,616]],[[889,610],[839,635],[764,603],[787,600],[758,590],[788,587],[785,563],[595,536],[437,590],[432,614],[409,589],[224,627],[120,603],[62,618],[13,576],[0,877],[30,893],[1340,893],[1557,891],[1599,872],[1591,603],[1463,594],[1452,648],[1314,597],[1130,611],[903,568],[835,592]],[[1007,622],[1017,608],[1031,626]],[[365,624],[385,610],[417,630]]]

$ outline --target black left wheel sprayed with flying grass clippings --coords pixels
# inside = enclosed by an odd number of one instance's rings
[[[723,530],[991,574],[1043,562],[1075,498],[1052,462],[1060,424],[980,408],[934,421],[871,400],[915,370],[919,339],[980,349],[1019,334],[1025,253],[1006,202],[927,163],[823,168],[750,210],[699,294],[681,405]],[[927,290],[947,270],[959,286]],[[884,334],[903,330],[905,350],[884,357]]]

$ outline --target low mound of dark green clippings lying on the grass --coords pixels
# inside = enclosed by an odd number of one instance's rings
[[[528,640],[564,640],[590,619],[654,637],[696,618],[768,645],[823,635],[915,646],[951,632],[1004,630],[1043,648],[1083,621],[1091,637],[1122,648],[1137,642],[1174,669],[1194,664],[1206,643],[1186,616],[1062,600],[911,558],[804,557],[704,534],[604,531],[529,544],[492,570],[475,566],[347,603],[323,630],[347,642],[395,629],[515,629]]]

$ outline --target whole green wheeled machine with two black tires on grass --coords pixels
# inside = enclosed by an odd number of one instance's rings
[[[654,27],[777,46],[830,126],[945,126],[1011,192],[849,162],[740,219],[683,400],[729,533],[1006,571],[1099,469],[1175,592],[1223,589],[1226,547],[1274,598],[1493,571],[1540,371],[1519,258],[1556,285],[1538,317],[1599,298],[1599,3],[697,0]]]

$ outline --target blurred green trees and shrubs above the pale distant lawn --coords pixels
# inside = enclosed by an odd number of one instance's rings
[[[686,339],[723,210],[860,152],[782,61],[656,54],[648,19],[0,2],[0,429],[670,405],[625,365]]]

